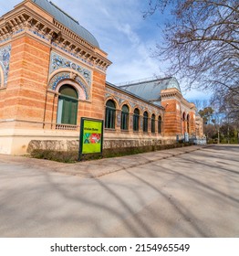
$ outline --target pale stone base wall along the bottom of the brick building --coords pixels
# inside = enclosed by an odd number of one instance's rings
[[[64,132],[56,130],[0,130],[0,154],[26,155],[34,149],[53,151],[78,151],[79,132]],[[135,148],[175,144],[174,136],[167,137],[160,134],[130,134],[105,133],[104,149]]]

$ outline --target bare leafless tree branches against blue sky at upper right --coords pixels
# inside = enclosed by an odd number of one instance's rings
[[[220,91],[225,101],[238,95],[238,0],[149,0],[145,16],[169,8],[155,52],[161,61],[170,60],[167,75],[188,79],[189,87]]]

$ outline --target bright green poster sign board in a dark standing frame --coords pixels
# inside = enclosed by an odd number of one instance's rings
[[[103,146],[103,121],[82,117],[79,136],[80,155],[102,153]]]

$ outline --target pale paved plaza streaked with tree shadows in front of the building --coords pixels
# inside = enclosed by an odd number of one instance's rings
[[[239,145],[62,164],[0,155],[0,237],[238,237]]]

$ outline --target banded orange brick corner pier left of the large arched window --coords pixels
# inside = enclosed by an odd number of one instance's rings
[[[43,122],[49,47],[31,37],[12,41],[3,119]]]

